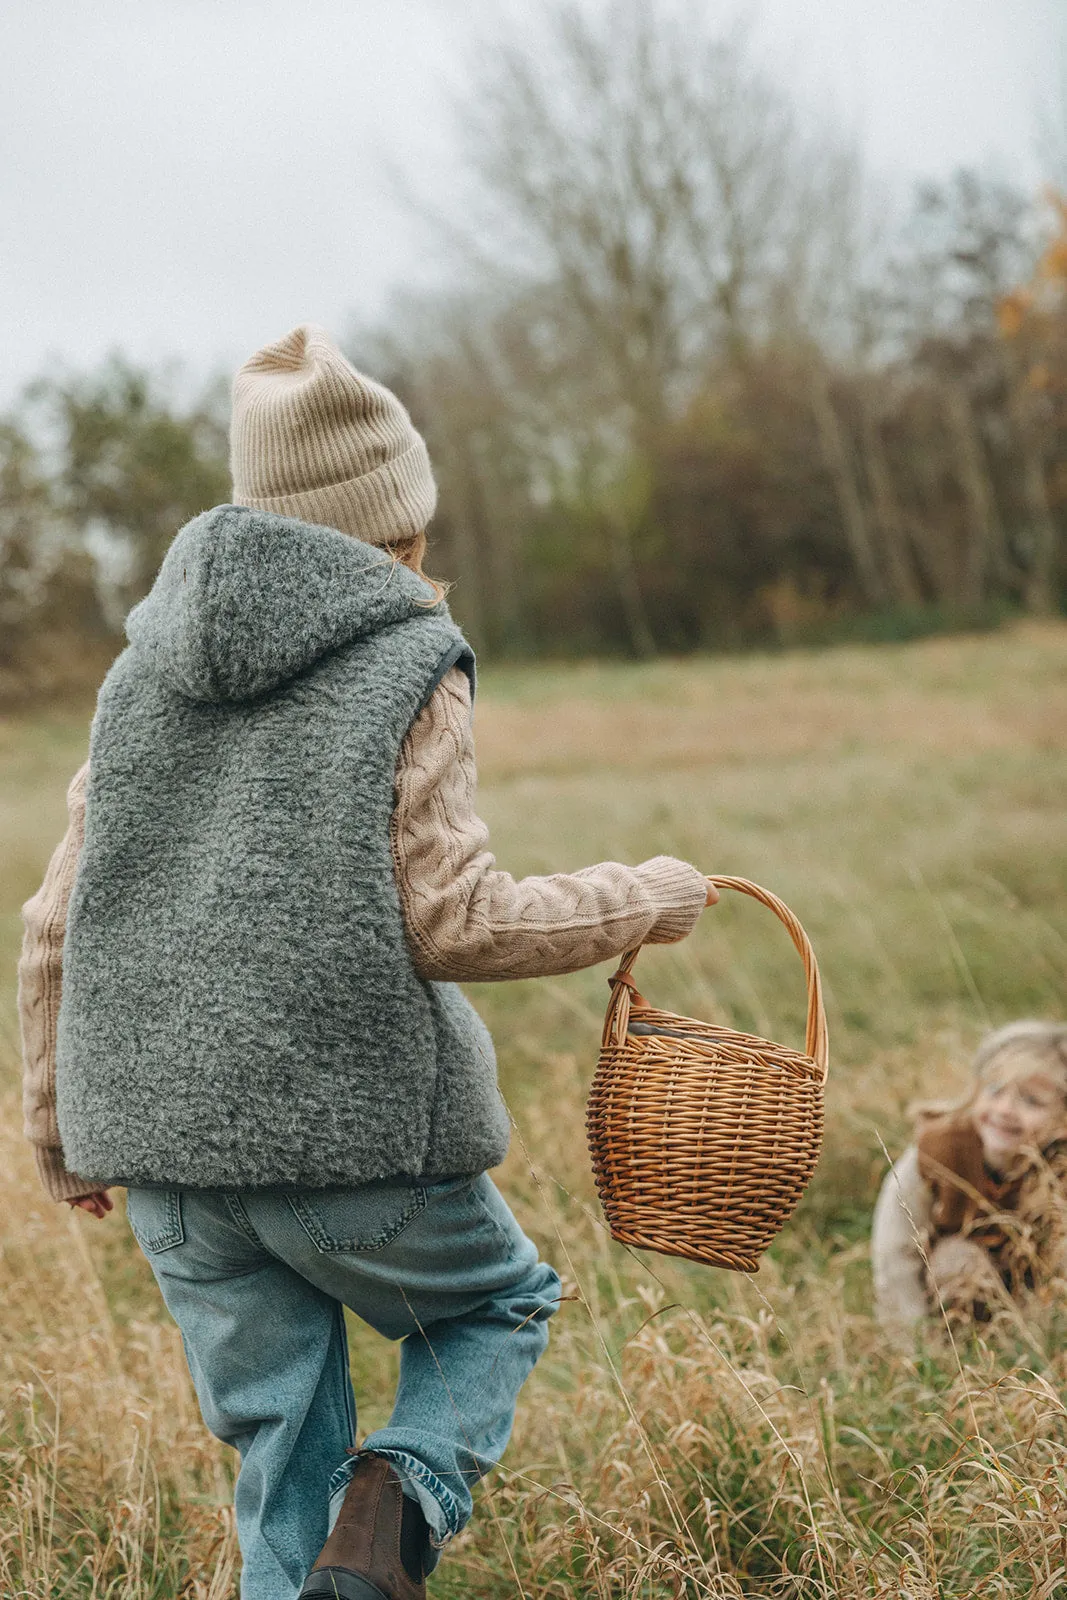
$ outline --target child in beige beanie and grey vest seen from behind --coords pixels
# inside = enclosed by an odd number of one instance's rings
[[[243,1600],[421,1600],[560,1294],[486,1176],[507,1114],[453,982],[670,942],[717,894],[664,856],[496,870],[426,446],[322,330],[238,373],[232,470],[130,614],[24,910],[27,1134],[54,1198],[128,1189],[240,1451]],[[344,1306],[403,1341],[360,1451]]]

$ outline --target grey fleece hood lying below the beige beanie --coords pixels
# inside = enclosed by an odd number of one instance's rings
[[[176,536],[126,635],[186,698],[243,701],[427,613],[448,610],[387,552],[334,528],[216,506]]]

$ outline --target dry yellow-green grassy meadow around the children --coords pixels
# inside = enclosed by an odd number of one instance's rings
[[[774,888],[819,950],[827,1141],[757,1278],[638,1256],[584,1144],[606,968],[472,990],[515,1120],[498,1174],[573,1298],[506,1467],[442,1565],[459,1597],[1067,1595],[1056,1307],[891,1350],[867,1230],[917,1093],[990,1022],[1067,1013],[1067,629],[649,667],[486,672],[502,866],[670,851]],[[0,1594],[230,1600],[232,1462],[122,1216],[53,1206],[19,1134],[19,902],[62,830],[86,717],[0,722]],[[659,1003],[793,1042],[803,979],[749,901],[646,952]],[[362,1430],[395,1350],[352,1326]]]

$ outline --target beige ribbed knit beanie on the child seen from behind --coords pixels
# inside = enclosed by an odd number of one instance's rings
[[[437,486],[397,397],[306,323],[234,379],[234,502],[318,522],[368,544],[422,533]]]

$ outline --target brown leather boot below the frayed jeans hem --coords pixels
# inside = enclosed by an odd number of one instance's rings
[[[382,1456],[363,1456],[299,1600],[426,1600],[426,1518]]]

